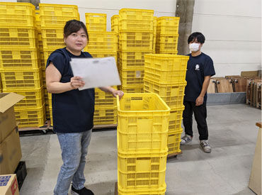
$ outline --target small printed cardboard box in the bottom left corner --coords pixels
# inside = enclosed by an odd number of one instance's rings
[[[19,195],[16,174],[0,175],[0,194]]]

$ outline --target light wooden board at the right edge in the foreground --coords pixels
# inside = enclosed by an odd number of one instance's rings
[[[258,129],[258,137],[256,139],[256,149],[249,177],[249,188],[256,194],[261,194],[261,123]]]

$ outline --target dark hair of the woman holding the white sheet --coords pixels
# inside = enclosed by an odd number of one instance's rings
[[[83,22],[76,20],[67,21],[66,25],[64,26],[64,38],[67,38],[72,33],[76,33],[81,28],[84,29],[87,41],[89,41],[89,33],[87,33],[86,26]]]

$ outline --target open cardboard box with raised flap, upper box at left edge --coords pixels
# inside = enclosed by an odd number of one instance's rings
[[[15,93],[0,94],[0,143],[16,127],[16,116],[13,105],[23,98],[24,96]]]

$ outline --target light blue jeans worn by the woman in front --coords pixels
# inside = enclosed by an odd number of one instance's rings
[[[91,134],[92,130],[81,133],[57,133],[64,164],[58,174],[55,195],[67,195],[71,182],[75,189],[84,188],[84,167]]]

